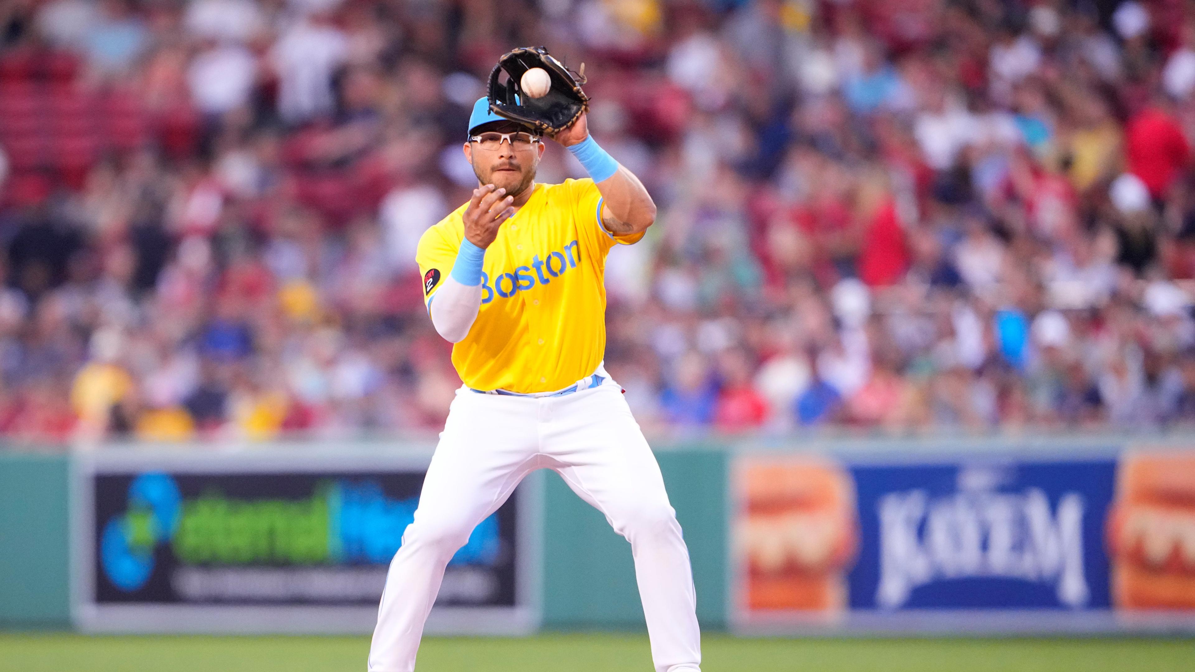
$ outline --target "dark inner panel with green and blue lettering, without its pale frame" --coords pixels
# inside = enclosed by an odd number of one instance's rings
[[[422,471],[98,475],[98,604],[364,604],[415,518]],[[448,563],[439,604],[515,604],[516,500]]]

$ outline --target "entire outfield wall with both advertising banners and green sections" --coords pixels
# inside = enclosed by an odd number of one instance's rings
[[[706,629],[1191,631],[1193,447],[756,441],[657,457]],[[367,631],[429,451],[0,453],[0,628]],[[454,558],[433,629],[642,628],[626,542],[553,475],[520,490]]]

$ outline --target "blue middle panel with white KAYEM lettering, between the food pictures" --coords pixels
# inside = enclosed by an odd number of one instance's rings
[[[852,465],[850,607],[1107,609],[1113,459]]]

